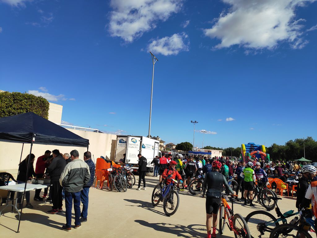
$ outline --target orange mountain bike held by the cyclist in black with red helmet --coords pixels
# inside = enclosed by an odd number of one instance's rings
[[[222,194],[222,202],[220,205],[220,218],[219,218],[219,232],[223,234],[226,224],[228,225],[230,231],[235,233],[235,237],[239,238],[251,238],[251,234],[249,231],[249,227],[247,222],[244,220],[243,216],[240,214],[233,213],[233,198],[230,197],[231,207],[230,208],[228,202],[226,201],[226,197],[231,195],[233,197],[237,197],[238,195],[233,194]]]

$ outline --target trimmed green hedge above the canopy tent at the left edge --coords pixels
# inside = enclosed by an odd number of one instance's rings
[[[33,94],[20,92],[0,92],[0,117],[34,112],[46,119],[49,118],[49,102]]]

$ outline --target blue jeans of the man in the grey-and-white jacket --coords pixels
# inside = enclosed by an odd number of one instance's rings
[[[66,215],[66,227],[69,228],[72,225],[72,208],[74,200],[75,211],[75,226],[80,225],[80,198],[81,192],[70,193],[65,191],[65,215]]]

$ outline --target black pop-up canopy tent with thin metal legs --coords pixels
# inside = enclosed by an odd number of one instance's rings
[[[87,147],[87,149],[89,146],[89,140],[74,134],[73,132],[55,124],[54,122],[50,122],[49,120],[38,116],[33,112],[27,112],[15,116],[1,117],[0,141],[23,143],[23,145],[24,143],[31,144],[29,156],[32,153],[33,144]],[[27,167],[27,175],[29,173],[29,167],[30,160]],[[28,178],[26,178],[25,181],[27,181],[27,179]],[[27,182],[25,182],[24,186],[22,207],[26,184]],[[21,208],[17,233],[19,232],[20,228],[22,209],[23,208]]]

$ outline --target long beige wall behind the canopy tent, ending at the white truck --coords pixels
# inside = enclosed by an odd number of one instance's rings
[[[114,158],[114,149],[116,144],[116,135],[96,133],[91,131],[82,131],[75,129],[68,129],[69,131],[89,140],[89,151],[94,155],[95,161],[100,155],[108,159]],[[17,170],[21,156],[22,143],[0,142],[0,171]],[[59,149],[61,153],[69,153],[73,149],[77,149],[81,158],[87,151],[84,147],[72,146],[55,146],[55,145],[38,145],[34,144],[32,153],[37,157],[44,154],[45,150]],[[24,144],[22,159],[30,153],[30,144]],[[12,172],[14,174],[15,172]]]

